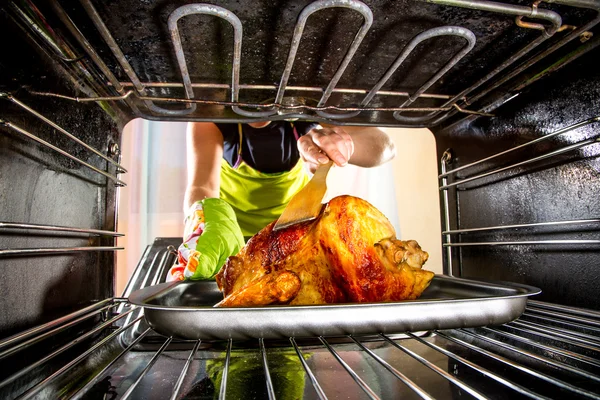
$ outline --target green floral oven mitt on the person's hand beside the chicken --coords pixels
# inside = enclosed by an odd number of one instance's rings
[[[185,221],[184,242],[167,281],[210,279],[227,257],[244,246],[244,236],[229,204],[217,198],[197,201]]]

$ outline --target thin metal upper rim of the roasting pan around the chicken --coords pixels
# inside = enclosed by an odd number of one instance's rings
[[[467,297],[467,298],[440,298],[440,299],[415,299],[415,300],[402,300],[394,302],[370,302],[370,303],[335,303],[335,304],[312,304],[312,305],[269,305],[269,306],[255,306],[255,307],[214,307],[214,306],[167,306],[160,304],[149,304],[148,301],[156,298],[163,292],[172,290],[174,286],[180,284],[189,284],[193,281],[176,281],[160,283],[158,285],[148,286],[143,289],[139,289],[133,292],[128,300],[129,303],[144,307],[152,310],[164,310],[164,311],[186,311],[186,312],[223,312],[223,311],[238,311],[238,312],[256,312],[256,311],[267,311],[267,310],[302,310],[302,309],[338,309],[343,308],[363,308],[363,307],[397,307],[404,305],[414,304],[429,304],[429,303],[462,303],[462,302],[474,302],[474,301],[489,301],[489,300],[503,300],[503,299],[516,299],[520,297],[535,296],[542,292],[540,288],[535,286],[526,285],[522,283],[504,282],[504,281],[481,281],[474,279],[459,278],[448,275],[436,274],[434,279],[437,280],[451,280],[451,281],[463,281],[465,283],[485,285],[485,286],[496,286],[500,289],[514,289],[520,291],[520,293],[508,294],[508,295],[491,295],[481,297]],[[201,281],[198,281],[201,282]]]

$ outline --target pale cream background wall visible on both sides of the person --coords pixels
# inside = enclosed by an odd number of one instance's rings
[[[120,189],[117,228],[117,294],[155,237],[183,235],[186,184],[186,123],[130,122],[123,131],[121,163],[129,173]],[[414,239],[429,252],[427,269],[442,272],[435,141],[427,129],[386,129],[397,156],[392,163],[365,169],[334,168],[327,199],[352,194],[380,209],[399,238]]]

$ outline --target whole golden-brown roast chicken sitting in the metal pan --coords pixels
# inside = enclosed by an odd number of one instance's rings
[[[414,240],[396,239],[375,207],[353,196],[327,203],[316,220],[273,231],[269,224],[216,276],[216,307],[416,299],[433,272]]]

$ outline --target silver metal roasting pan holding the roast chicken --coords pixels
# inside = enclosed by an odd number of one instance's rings
[[[401,333],[499,325],[518,318],[540,289],[436,275],[418,300],[390,303],[213,308],[214,281],[162,283],[129,301],[158,333],[181,339],[276,339]]]

